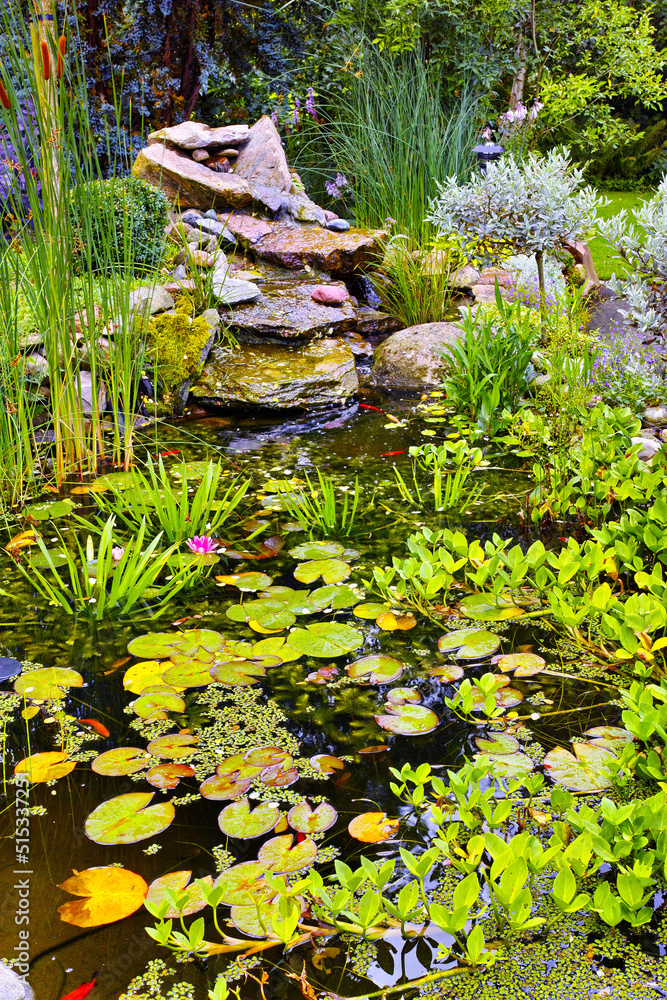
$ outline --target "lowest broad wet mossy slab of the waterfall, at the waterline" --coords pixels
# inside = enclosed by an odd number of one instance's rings
[[[358,387],[349,345],[317,340],[291,349],[281,344],[217,345],[191,395],[213,407],[289,409],[342,403]]]

